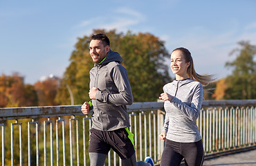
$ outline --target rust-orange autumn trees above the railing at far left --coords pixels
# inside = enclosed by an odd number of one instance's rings
[[[0,107],[53,106],[57,80],[47,79],[34,85],[24,84],[19,73],[0,76]]]

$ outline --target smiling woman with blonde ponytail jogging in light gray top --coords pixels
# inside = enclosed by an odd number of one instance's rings
[[[171,54],[172,73],[176,80],[163,86],[159,97],[165,101],[166,111],[163,132],[165,141],[161,166],[203,165],[204,151],[196,119],[203,102],[203,85],[211,83],[212,75],[199,75],[194,71],[191,53],[186,48],[176,48]]]

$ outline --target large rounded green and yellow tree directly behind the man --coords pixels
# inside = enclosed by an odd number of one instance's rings
[[[96,33],[105,33],[110,39],[111,50],[120,53],[122,66],[127,69],[134,102],[156,101],[163,91],[163,85],[171,81],[169,66],[163,63],[169,57],[164,42],[149,33],[136,35],[128,31],[124,35],[116,33],[116,30],[93,30],[93,34]],[[62,78],[63,82],[71,86],[75,104],[89,100],[89,71],[94,65],[89,54],[89,42],[90,38],[87,36],[78,38],[69,59],[71,63]],[[59,89],[56,100],[61,104],[69,103],[64,84]]]

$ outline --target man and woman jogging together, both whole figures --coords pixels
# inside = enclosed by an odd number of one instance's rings
[[[91,36],[89,44],[95,65],[90,71],[90,102],[82,104],[82,113],[93,109],[90,129],[89,158],[91,166],[103,166],[112,148],[120,156],[122,165],[154,166],[152,158],[136,162],[133,134],[129,131],[129,115],[126,105],[132,104],[133,95],[127,71],[120,64],[122,57],[110,48],[104,34]],[[165,141],[161,165],[203,164],[203,145],[196,126],[203,100],[203,86],[212,81],[210,75],[195,73],[190,52],[177,48],[171,55],[174,82],[163,87],[159,97],[165,101],[165,124],[159,136]],[[194,81],[196,80],[196,81]],[[201,83],[200,83],[201,82]]]

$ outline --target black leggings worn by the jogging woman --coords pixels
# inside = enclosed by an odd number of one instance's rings
[[[185,158],[185,165],[203,165],[204,151],[202,140],[191,143],[174,142],[172,140],[165,141],[161,166],[179,166],[183,158]]]

